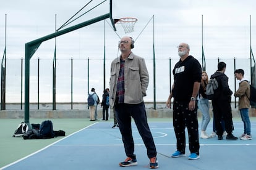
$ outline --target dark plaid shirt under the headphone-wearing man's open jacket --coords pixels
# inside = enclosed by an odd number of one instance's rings
[[[125,60],[120,59],[120,71],[117,79],[116,94],[118,103],[124,103],[124,62]]]

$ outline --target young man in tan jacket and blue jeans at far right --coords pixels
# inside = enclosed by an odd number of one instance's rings
[[[237,69],[234,71],[236,79],[239,80],[239,88],[234,93],[234,97],[239,97],[238,109],[240,110],[242,122],[244,123],[244,133],[241,135],[241,140],[251,140],[252,134],[250,134],[250,84],[247,79],[244,78],[244,70]]]

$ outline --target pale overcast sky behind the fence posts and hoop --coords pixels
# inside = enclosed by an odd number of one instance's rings
[[[179,60],[177,46],[190,45],[190,55],[201,60],[202,45],[208,60],[208,74],[216,70],[217,59],[228,64],[233,59],[250,57],[250,15],[252,50],[256,48],[256,2],[253,0],[113,0],[113,18],[135,17],[134,31],[125,34],[121,25],[114,32],[109,18],[56,38],[57,42],[57,102],[70,102],[70,59],[74,59],[73,100],[85,102],[87,94],[87,59],[90,59],[89,89],[103,93],[103,56],[106,49],[106,87],[109,83],[110,63],[120,52],[119,37],[135,39],[135,54],[144,57],[150,73],[150,84],[145,101],[153,101],[153,47],[156,59],[156,100],[163,102],[169,93],[169,59],[171,65]],[[25,55],[25,43],[54,33],[89,1],[2,1],[0,6],[0,52],[5,46],[7,16],[7,102],[20,101],[20,62]],[[103,1],[92,1],[77,16]],[[109,1],[67,25],[108,14]],[[56,18],[56,19],[55,19]],[[56,20],[56,24],[55,24]],[[202,29],[203,28],[203,29]],[[30,101],[37,101],[37,62],[40,59],[40,102],[52,100],[52,60],[54,39],[43,42],[30,60]],[[214,64],[213,64],[214,63]],[[241,62],[247,67],[247,62]],[[233,65],[233,63],[232,63]],[[229,65],[228,65],[229,66]],[[229,77],[234,69],[229,67]],[[245,68],[245,74],[249,72]],[[248,70],[248,71],[247,71]],[[246,72],[247,71],[247,72]],[[248,73],[249,74],[249,73]],[[172,81],[172,80],[171,80]],[[233,82],[232,82],[233,83]],[[234,87],[234,84],[231,84]]]

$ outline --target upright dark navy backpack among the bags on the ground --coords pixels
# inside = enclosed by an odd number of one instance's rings
[[[32,129],[37,139],[49,139],[54,137],[53,123],[50,120],[43,121],[39,130]]]

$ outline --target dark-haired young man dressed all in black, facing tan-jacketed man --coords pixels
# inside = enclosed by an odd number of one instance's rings
[[[215,118],[216,133],[218,135],[218,140],[223,139],[224,129],[221,126],[221,119],[224,119],[225,129],[228,133],[226,136],[227,140],[237,140],[232,132],[234,130],[233,120],[232,120],[232,109],[231,109],[231,95],[233,92],[228,86],[228,76],[224,73],[226,71],[226,63],[218,63],[218,70],[211,75],[211,79],[216,79],[218,82],[218,88],[215,89],[213,99],[211,103],[213,105],[213,115]]]

